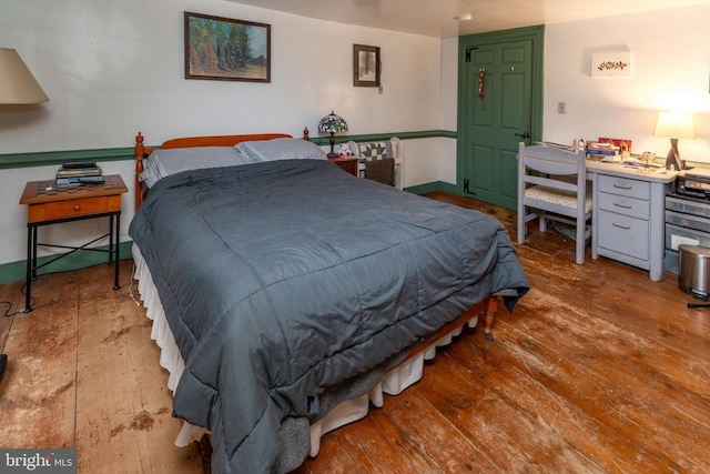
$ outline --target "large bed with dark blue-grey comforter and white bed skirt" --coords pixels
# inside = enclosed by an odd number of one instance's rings
[[[135,278],[186,422],[178,443],[207,430],[215,472],[297,467],[464,324],[483,315],[493,340],[498,302],[528,290],[495,219],[353,177],[307,140],[151,152],[139,133]]]

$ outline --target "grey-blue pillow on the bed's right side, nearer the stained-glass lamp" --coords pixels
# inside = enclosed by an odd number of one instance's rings
[[[327,160],[325,151],[302,139],[274,139],[237,143],[236,151],[248,163],[276,160]]]

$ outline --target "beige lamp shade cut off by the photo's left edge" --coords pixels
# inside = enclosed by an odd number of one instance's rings
[[[49,98],[13,49],[0,48],[0,104],[47,102]]]

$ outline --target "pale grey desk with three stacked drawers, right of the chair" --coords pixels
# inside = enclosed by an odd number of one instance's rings
[[[639,173],[633,168],[587,160],[592,182],[591,258],[599,255],[663,278],[665,200],[677,172]]]

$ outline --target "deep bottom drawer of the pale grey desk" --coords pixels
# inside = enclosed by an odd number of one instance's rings
[[[649,259],[649,221],[599,211],[598,245],[635,259]]]

